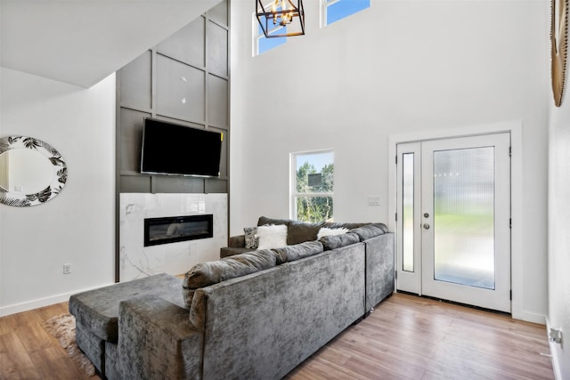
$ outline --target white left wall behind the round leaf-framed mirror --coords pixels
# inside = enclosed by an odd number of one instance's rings
[[[0,88],[0,136],[48,142],[69,170],[43,205],[0,204],[2,316],[114,282],[115,76],[84,89],[0,68]]]

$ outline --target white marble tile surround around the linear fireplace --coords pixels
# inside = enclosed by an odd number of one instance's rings
[[[214,236],[144,247],[144,219],[213,214]],[[192,265],[217,260],[227,245],[227,194],[121,193],[119,281],[158,273],[182,274]]]

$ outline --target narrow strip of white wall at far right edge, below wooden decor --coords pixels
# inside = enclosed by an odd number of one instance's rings
[[[554,101],[550,102],[554,104]],[[550,109],[549,327],[562,327],[562,344],[550,343],[558,379],[570,378],[570,99],[566,82],[560,108]]]

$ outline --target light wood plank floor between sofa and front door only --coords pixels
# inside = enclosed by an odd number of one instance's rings
[[[546,328],[395,294],[289,379],[553,379]]]

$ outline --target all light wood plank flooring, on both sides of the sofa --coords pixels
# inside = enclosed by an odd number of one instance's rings
[[[65,312],[58,303],[0,318],[0,379],[98,378],[41,327]],[[548,353],[541,325],[396,294],[287,379],[553,379]]]

